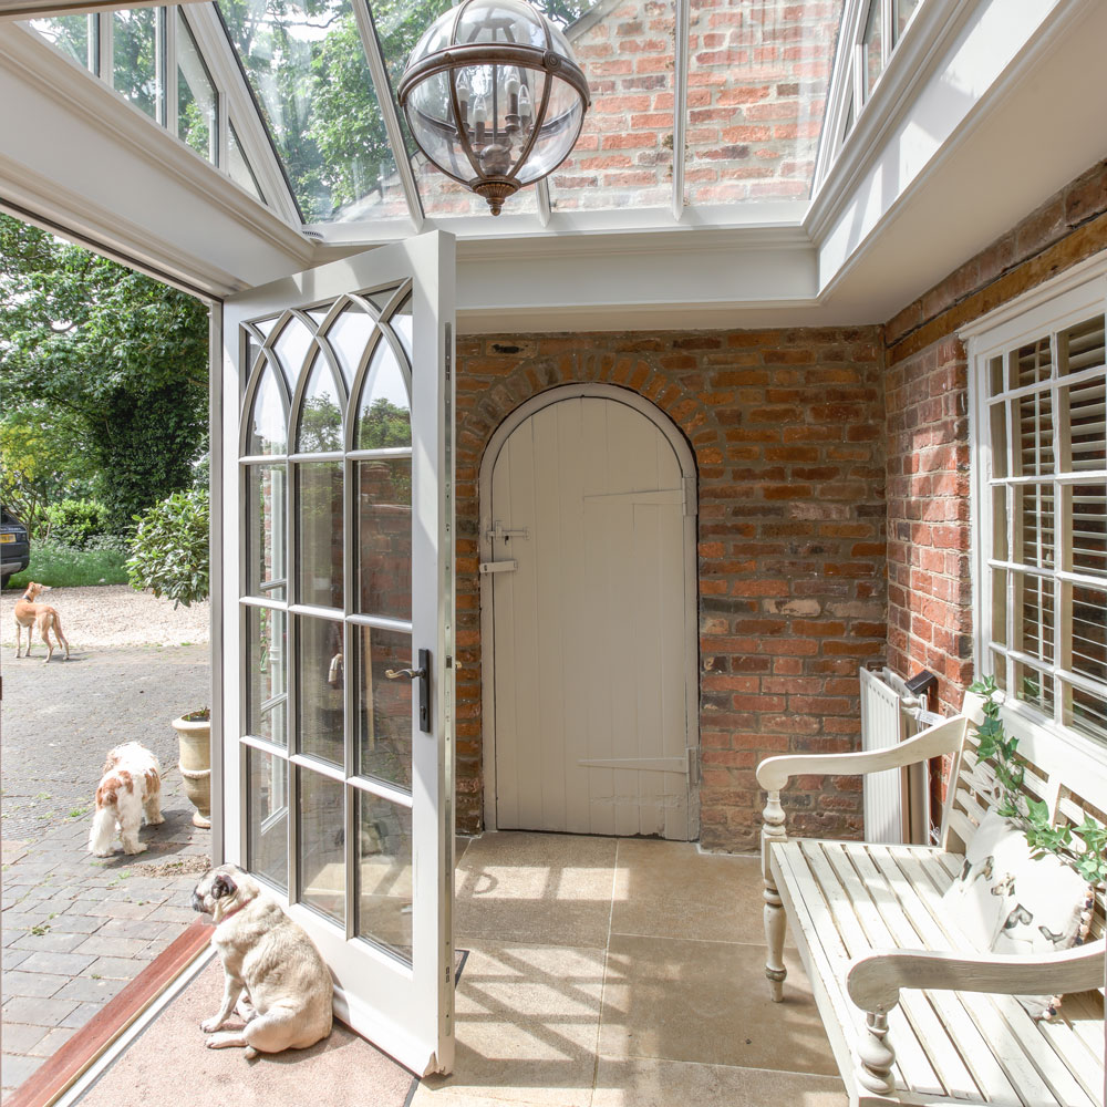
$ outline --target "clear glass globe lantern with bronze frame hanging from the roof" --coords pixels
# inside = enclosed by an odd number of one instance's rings
[[[439,15],[397,96],[420,149],[493,215],[569,156],[590,103],[568,40],[524,0],[463,0]]]

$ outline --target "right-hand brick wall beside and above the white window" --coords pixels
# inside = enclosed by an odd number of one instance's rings
[[[888,651],[940,676],[945,710],[972,681],[968,361],[959,328],[1107,249],[1100,162],[884,328]]]

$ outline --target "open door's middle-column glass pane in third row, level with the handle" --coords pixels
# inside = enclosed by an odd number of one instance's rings
[[[297,628],[296,732],[300,753],[342,765],[342,623],[293,615]]]

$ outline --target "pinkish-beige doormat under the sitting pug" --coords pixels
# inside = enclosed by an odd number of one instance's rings
[[[456,979],[467,953],[457,951]],[[247,1061],[241,1049],[208,1049],[200,1023],[219,1010],[218,958],[116,1057],[76,1100],[80,1107],[302,1107],[362,1104],[405,1107],[418,1080],[348,1026],[309,1049],[286,1049]],[[234,1022],[230,1026],[236,1025]]]

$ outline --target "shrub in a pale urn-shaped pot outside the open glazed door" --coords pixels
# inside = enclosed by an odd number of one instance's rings
[[[206,488],[176,492],[136,516],[127,576],[131,587],[151,589],[173,606],[205,600],[208,568],[208,494]],[[193,825],[211,826],[211,712],[204,707],[173,721],[180,758],[177,767],[185,794],[196,808]]]

